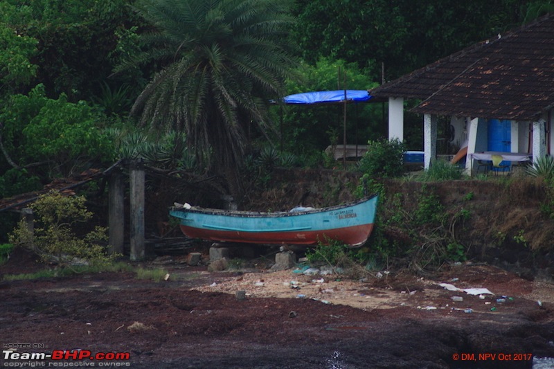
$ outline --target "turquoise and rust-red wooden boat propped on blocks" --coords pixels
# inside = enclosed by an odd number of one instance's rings
[[[177,204],[176,204],[177,205]],[[329,208],[295,208],[289,212],[170,208],[190,238],[253,244],[328,244],[337,240],[361,246],[373,230],[377,195]]]

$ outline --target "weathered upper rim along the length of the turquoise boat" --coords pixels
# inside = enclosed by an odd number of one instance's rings
[[[327,208],[316,208],[312,210],[303,210],[303,211],[278,211],[278,212],[261,212],[261,211],[249,211],[249,210],[224,210],[224,209],[213,209],[213,208],[201,208],[199,206],[193,206],[192,208],[177,208],[176,206],[171,206],[170,211],[175,211],[178,213],[197,213],[205,215],[222,215],[229,217],[295,217],[298,215],[310,215],[310,214],[319,214],[326,213],[329,211],[340,210],[343,208],[350,208],[352,206],[357,206],[363,204],[364,202],[370,201],[371,199],[377,197],[378,194],[373,194],[368,197],[363,197],[356,201],[350,201],[346,204],[329,206]],[[177,215],[172,215],[178,217]]]

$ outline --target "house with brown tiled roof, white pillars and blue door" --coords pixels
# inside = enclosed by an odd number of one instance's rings
[[[423,115],[425,168],[436,158],[437,121],[450,117],[467,150],[524,154],[536,161],[554,145],[554,14],[494,35],[370,91],[388,98],[388,136],[404,139],[404,100]],[[514,158],[517,155],[513,155]],[[466,169],[472,170],[472,160]]]

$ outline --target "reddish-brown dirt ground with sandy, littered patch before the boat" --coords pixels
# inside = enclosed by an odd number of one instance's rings
[[[161,282],[127,272],[0,282],[0,366],[546,368],[540,358],[554,357],[554,285],[487,264],[352,280],[294,269],[211,273],[183,259],[144,265],[166,269]],[[37,268],[16,253],[0,271]],[[129,360],[18,361],[8,348]]]

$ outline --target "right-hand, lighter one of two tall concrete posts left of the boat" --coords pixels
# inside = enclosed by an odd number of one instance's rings
[[[129,241],[131,244],[131,261],[143,260],[145,255],[144,240],[144,168],[143,160],[132,161],[130,168],[131,227]]]

